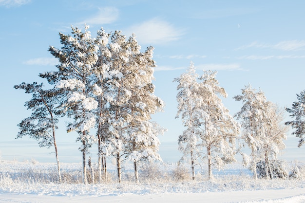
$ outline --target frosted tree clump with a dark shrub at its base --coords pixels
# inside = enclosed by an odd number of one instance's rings
[[[264,163],[266,177],[272,178],[272,161],[277,159],[281,149],[285,148],[287,128],[283,126],[283,112],[267,101],[265,93],[256,91],[251,85],[242,89],[241,95],[234,96],[236,101],[242,101],[241,111],[235,114],[241,120],[242,138],[251,149],[249,168],[253,177],[257,178],[257,163]],[[247,158],[244,155],[244,158]],[[247,159],[245,159],[246,161]],[[244,163],[248,165],[248,163]]]

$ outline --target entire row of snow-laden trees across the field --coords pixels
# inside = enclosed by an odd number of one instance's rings
[[[134,36],[126,39],[119,31],[106,33],[103,28],[92,37],[85,26],[84,32],[72,27],[72,35],[59,33],[61,48],[50,47],[58,59],[57,71],[39,74],[51,89],[43,84],[21,83],[14,86],[32,94],[25,106],[32,110],[30,117],[19,123],[17,138],[29,136],[38,140],[40,147],[54,147],[57,159],[58,181],[61,182],[57,153],[56,129],[60,118],[73,122],[67,132],[76,131],[83,158],[83,183],[87,184],[86,154],[93,144],[98,148],[98,180],[107,174],[106,158],[116,159],[117,178],[121,183],[121,162],[133,162],[134,176],[138,182],[138,162],[161,160],[158,135],[165,129],[152,122],[152,114],[163,111],[162,99],[154,95],[152,84],[155,62],[153,47],[141,52]],[[281,177],[281,162],[277,159],[285,148],[287,125],[304,143],[304,94],[298,95],[292,109],[286,109],[295,121],[284,121],[284,108],[267,101],[264,92],[250,85],[234,96],[243,106],[234,116],[224,107],[220,96],[227,97],[218,86],[217,72],[195,72],[191,63],[187,72],[174,78],[178,83],[176,118],[181,117],[185,130],[179,135],[179,150],[183,159],[191,160],[192,179],[194,167],[207,160],[208,177],[212,168],[221,169],[235,162],[241,153],[243,165],[253,171],[254,178]],[[234,119],[235,118],[235,119]],[[239,122],[237,122],[239,121]],[[95,129],[96,134],[90,131]],[[250,155],[241,152],[245,145]],[[90,163],[90,162],[89,162]],[[94,171],[94,170],[92,170]]]

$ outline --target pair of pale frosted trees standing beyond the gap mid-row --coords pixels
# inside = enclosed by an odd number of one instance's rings
[[[201,77],[195,74],[191,63],[186,74],[174,81],[179,82],[177,94],[178,113],[187,127],[179,136],[179,149],[184,156],[191,155],[192,177],[194,161],[204,154],[207,159],[209,179],[212,167],[222,168],[235,161],[235,138],[239,125],[224,107],[219,96],[227,97],[225,90],[218,86],[217,72],[205,71]],[[201,82],[197,82],[202,80]],[[206,149],[206,153],[202,149]]]

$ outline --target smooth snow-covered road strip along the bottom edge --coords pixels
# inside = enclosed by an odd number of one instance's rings
[[[0,194],[0,203],[304,203],[305,189],[281,189],[247,192],[209,193],[165,193],[165,194],[125,194],[104,196],[45,196],[31,194]]]

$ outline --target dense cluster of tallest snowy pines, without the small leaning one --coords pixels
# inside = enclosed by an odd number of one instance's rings
[[[103,28],[92,38],[88,28],[81,32],[72,27],[73,36],[60,33],[63,47],[49,49],[61,63],[58,71],[40,76],[65,92],[60,108],[73,118],[68,131],[78,132],[77,141],[82,143],[83,182],[87,183],[86,153],[97,141],[99,182],[101,164],[107,174],[106,156],[112,155],[121,183],[121,162],[125,159],[142,154],[133,159],[135,174],[137,161],[160,159],[157,135],[164,129],[151,121],[151,115],[162,111],[164,104],[153,94],[153,48],[141,53],[134,36],[126,40],[120,31],[110,35]],[[97,139],[90,135],[94,127]]]

